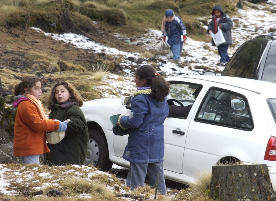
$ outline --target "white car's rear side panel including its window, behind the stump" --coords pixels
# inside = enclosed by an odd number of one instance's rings
[[[244,107],[233,108],[239,101]],[[189,124],[183,175],[197,178],[210,173],[223,158],[262,163],[271,129],[261,105],[254,91],[210,84]]]

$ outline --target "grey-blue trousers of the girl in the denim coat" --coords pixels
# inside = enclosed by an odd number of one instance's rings
[[[131,189],[143,187],[146,174],[149,177],[150,186],[155,187],[157,181],[157,173],[159,176],[158,191],[166,195],[166,183],[164,178],[163,162],[156,163],[130,163],[129,173],[127,174],[127,186]]]

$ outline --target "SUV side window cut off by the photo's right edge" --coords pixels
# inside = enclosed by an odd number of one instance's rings
[[[271,46],[261,80],[276,83],[276,46]]]

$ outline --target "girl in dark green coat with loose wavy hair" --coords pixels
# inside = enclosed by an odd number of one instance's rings
[[[51,91],[48,108],[49,118],[64,121],[70,119],[65,137],[57,144],[49,144],[51,150],[44,155],[47,165],[83,165],[88,148],[88,129],[81,110],[83,99],[78,91],[68,82],[62,81]]]

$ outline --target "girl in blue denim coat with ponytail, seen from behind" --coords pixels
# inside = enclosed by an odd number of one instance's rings
[[[150,186],[155,187],[158,173],[158,190],[166,194],[164,120],[168,116],[166,96],[170,84],[150,65],[138,67],[135,76],[137,91],[131,100],[131,114],[122,114],[118,119],[120,127],[130,128],[123,154],[123,158],[130,162],[127,186],[131,189],[143,187],[148,174]]]

